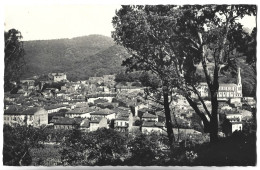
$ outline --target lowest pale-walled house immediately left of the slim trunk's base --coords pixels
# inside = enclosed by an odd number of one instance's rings
[[[162,133],[164,130],[164,124],[160,122],[146,122],[144,121],[142,124],[142,133],[152,133],[152,132],[157,132],[157,133]]]

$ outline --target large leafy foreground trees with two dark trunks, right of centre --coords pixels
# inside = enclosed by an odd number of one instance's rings
[[[218,141],[219,74],[230,63],[238,42],[237,18],[256,15],[253,5],[122,6],[113,18],[114,40],[131,54],[123,65],[128,70],[151,72],[158,80],[156,93],[163,96],[167,133],[173,141],[169,99],[178,89],[203,121],[210,141]],[[232,48],[231,48],[232,47]],[[211,110],[198,92],[202,65]],[[155,91],[153,91],[154,93]],[[203,109],[199,109],[199,100]],[[157,100],[158,101],[158,100]]]

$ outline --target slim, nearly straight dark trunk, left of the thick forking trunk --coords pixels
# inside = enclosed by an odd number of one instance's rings
[[[164,100],[164,111],[165,111],[165,117],[166,117],[166,128],[167,128],[167,134],[169,138],[169,144],[170,146],[173,146],[174,142],[174,134],[172,130],[172,120],[171,120],[171,111],[170,111],[170,104],[169,104],[169,93],[168,89],[163,89],[163,100]]]

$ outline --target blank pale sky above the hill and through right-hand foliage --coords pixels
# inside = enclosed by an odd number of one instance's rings
[[[111,36],[112,18],[120,5],[115,4],[7,4],[4,30],[21,31],[23,40],[73,38],[90,34]],[[252,28],[255,17],[240,21]]]

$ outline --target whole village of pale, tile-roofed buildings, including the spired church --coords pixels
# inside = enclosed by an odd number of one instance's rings
[[[56,130],[79,128],[84,132],[112,128],[123,133],[166,134],[163,106],[144,99],[145,87],[116,83],[115,75],[77,82],[68,81],[66,73],[49,73],[42,77],[21,80],[16,93],[5,93],[4,124],[49,126]],[[198,91],[210,108],[207,84],[201,83]],[[197,121],[186,99],[172,95],[174,100],[170,107],[175,114],[172,116],[175,135],[182,132],[190,137],[203,133],[203,124]],[[220,84],[218,100],[219,121],[228,122],[219,136],[242,131],[243,124],[252,119],[256,101],[242,96],[240,69],[237,84]]]

